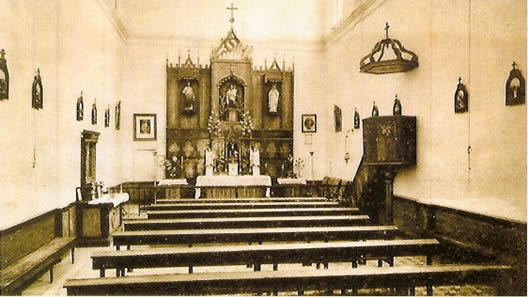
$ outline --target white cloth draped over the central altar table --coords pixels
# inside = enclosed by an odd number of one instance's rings
[[[200,175],[196,178],[196,199],[200,198],[199,187],[253,187],[264,186],[266,197],[270,197],[271,177],[269,175]]]

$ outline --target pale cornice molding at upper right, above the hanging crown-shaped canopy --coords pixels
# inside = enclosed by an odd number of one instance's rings
[[[346,19],[337,24],[324,38],[324,50],[343,38],[348,32],[356,27],[364,18],[376,11],[386,0],[366,0],[358,6]]]

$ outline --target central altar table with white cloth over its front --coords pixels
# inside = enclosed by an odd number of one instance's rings
[[[211,175],[196,178],[195,198],[270,197],[268,175]]]

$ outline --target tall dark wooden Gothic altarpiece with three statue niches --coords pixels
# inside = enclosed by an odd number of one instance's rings
[[[252,48],[243,45],[231,28],[211,52],[210,65],[200,65],[198,59],[194,63],[188,54],[183,63],[180,58],[177,64],[167,62],[166,69],[166,156],[183,157],[184,177],[204,174],[205,150],[209,146],[220,161],[215,164],[217,174],[227,171],[227,164],[221,163],[230,158],[233,147],[240,158],[240,174],[249,174],[249,150],[256,147],[261,174],[286,175],[283,164],[293,155],[293,68],[286,70],[284,62],[279,67],[276,60],[269,68],[255,68]],[[275,105],[270,111],[273,86]],[[185,108],[191,91],[195,104],[192,112]],[[219,131],[214,135],[210,117],[219,121]],[[247,125],[242,122],[248,118],[252,129],[244,133]]]

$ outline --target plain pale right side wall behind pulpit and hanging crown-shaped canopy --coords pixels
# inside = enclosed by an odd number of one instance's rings
[[[378,9],[327,42],[328,92],[343,108],[344,130],[352,127],[354,107],[369,117],[375,100],[381,115],[390,115],[398,94],[403,114],[418,120],[418,160],[396,177],[396,195],[525,220],[526,105],[505,106],[504,86],[513,61],[527,74],[526,1],[378,2]],[[386,21],[390,37],[419,56],[419,67],[359,73],[361,58],[384,37]],[[469,91],[470,113],[453,111],[458,76]],[[333,174],[352,178],[362,133],[351,133],[353,162],[346,165],[345,134],[331,129]]]

